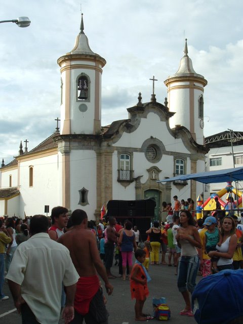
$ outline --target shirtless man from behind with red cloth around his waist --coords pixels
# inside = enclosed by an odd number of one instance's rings
[[[72,324],[106,324],[108,313],[105,308],[98,274],[105,282],[108,295],[112,294],[104,265],[100,259],[93,232],[87,229],[88,217],[85,211],[76,209],[71,216],[73,229],[58,238],[70,252],[74,267],[80,278],[77,282]]]

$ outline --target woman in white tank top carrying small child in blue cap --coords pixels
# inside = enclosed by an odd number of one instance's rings
[[[237,236],[235,234],[235,223],[231,216],[223,218],[221,225],[222,244],[216,246],[218,251],[209,252],[210,258],[219,258],[217,268],[219,271],[233,269],[233,254],[237,247]]]

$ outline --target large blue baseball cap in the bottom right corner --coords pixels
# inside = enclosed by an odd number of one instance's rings
[[[222,270],[201,279],[192,293],[198,324],[227,324],[243,316],[243,270]]]

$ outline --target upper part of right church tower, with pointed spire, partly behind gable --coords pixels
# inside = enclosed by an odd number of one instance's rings
[[[187,39],[184,53],[178,71],[165,80],[169,109],[176,112],[170,118],[170,127],[184,126],[198,144],[204,144],[204,87],[208,82],[193,69]]]

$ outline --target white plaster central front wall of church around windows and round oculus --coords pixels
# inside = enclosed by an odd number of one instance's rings
[[[161,158],[156,161],[156,163],[149,161],[144,153],[147,142],[153,143],[153,141],[155,143],[159,143],[158,145],[161,149]],[[161,170],[161,172],[158,173],[157,180],[175,176],[176,158],[182,158],[185,161],[185,174],[201,172],[205,170],[204,161],[202,160],[196,163],[196,160],[198,158],[196,155],[191,160],[191,152],[186,148],[186,146],[182,142],[182,139],[175,139],[168,131],[166,122],[161,121],[159,116],[153,112],[150,112],[147,115],[147,118],[141,118],[140,125],[136,129],[136,131],[132,133],[123,133],[121,138],[114,145],[116,147],[119,147],[118,154],[123,152],[123,148],[125,153],[132,154],[131,170],[134,171],[135,178],[142,176],[140,182],[143,186],[143,189],[145,190],[147,190],[146,186],[150,183],[149,179],[151,178],[148,170],[153,166],[156,166],[159,170]],[[190,145],[188,145],[188,147],[190,147]],[[143,151],[141,151],[142,149]],[[127,186],[122,186],[116,181],[117,171],[115,165],[117,165],[117,160],[119,159],[117,157],[117,152],[115,152],[113,156],[113,193],[119,195],[120,197],[122,197],[122,199],[128,199],[127,197],[131,197],[130,199],[136,199],[135,182],[132,182]],[[119,169],[119,163],[117,165],[117,169]],[[162,184],[160,184],[160,186],[161,185]],[[193,199],[195,199],[194,195],[199,189],[197,190],[196,185],[193,184],[193,192],[191,192],[190,185],[190,182],[188,182],[186,185],[175,185],[171,183],[171,193],[169,194],[169,196],[172,203],[174,195],[177,195],[180,199],[187,199],[193,194]],[[155,189],[156,186],[158,185],[154,184],[153,189]],[[166,195],[165,192],[163,194]],[[164,197],[161,197],[161,199],[166,200],[166,198]]]

